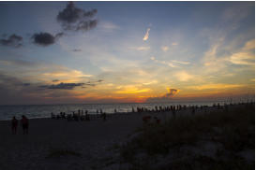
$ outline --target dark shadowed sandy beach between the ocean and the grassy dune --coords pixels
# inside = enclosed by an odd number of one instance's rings
[[[196,114],[209,110],[218,108],[206,107]],[[177,115],[191,115],[191,110],[181,110]],[[33,119],[29,120],[28,135],[23,135],[20,121],[17,134],[12,135],[10,120],[1,120],[0,169],[128,169],[126,164],[106,163],[118,162],[120,153],[114,148],[126,144],[144,126],[145,116],[151,116],[152,124],[156,124],[154,117],[164,123],[172,113],[122,113],[107,115],[106,120],[95,116],[83,121]]]

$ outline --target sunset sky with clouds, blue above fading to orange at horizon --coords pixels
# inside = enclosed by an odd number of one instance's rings
[[[254,99],[254,4],[0,2],[0,105]]]

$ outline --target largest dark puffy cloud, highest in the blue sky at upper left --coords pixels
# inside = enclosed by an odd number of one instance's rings
[[[97,12],[97,9],[85,11],[69,2],[67,7],[58,13],[57,21],[62,24],[64,30],[87,31],[97,26],[98,21],[94,19]]]

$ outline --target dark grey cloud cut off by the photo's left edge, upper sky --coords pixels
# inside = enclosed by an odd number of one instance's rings
[[[2,46],[19,48],[23,46],[22,41],[23,41],[22,36],[13,34],[13,35],[9,35],[7,39],[6,38],[0,39],[0,44]]]

